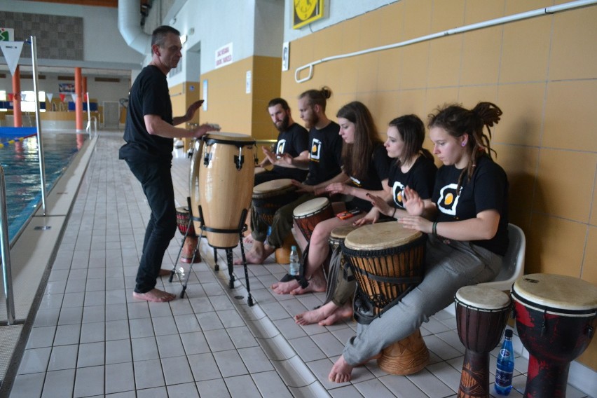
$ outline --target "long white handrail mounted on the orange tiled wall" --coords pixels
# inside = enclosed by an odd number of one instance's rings
[[[427,34],[427,36],[420,36],[416,39],[401,41],[399,43],[394,43],[394,44],[388,44],[387,46],[380,46],[380,47],[375,47],[375,48],[369,48],[367,50],[355,51],[353,53],[325,57],[325,58],[322,58],[321,60],[310,62],[308,64],[303,65],[302,67],[296,68],[296,70],[294,71],[294,81],[296,81],[296,83],[303,83],[305,81],[310,80],[310,78],[313,77],[313,67],[317,64],[322,64],[323,62],[340,60],[342,58],[348,58],[348,57],[355,57],[356,55],[369,54],[369,53],[374,53],[376,51],[390,50],[391,48],[399,48],[399,47],[409,46],[410,44],[420,43],[421,41],[437,39],[439,37],[450,36],[452,34],[470,32],[472,30],[483,29],[485,27],[492,27],[495,25],[504,25],[509,22],[526,20],[529,18],[539,17],[539,16],[542,16],[545,14],[554,14],[554,13],[558,13],[560,11],[568,11],[568,10],[573,10],[575,8],[593,6],[594,4],[597,4],[597,0],[570,1],[569,3],[559,4],[558,6],[538,8],[537,10],[533,10],[533,11],[526,11],[524,13],[508,15],[508,16],[502,17],[502,18],[495,18],[493,20],[486,20],[486,21],[477,22],[477,23],[474,23],[471,25],[465,25],[462,27],[454,28],[454,29],[448,29],[448,30],[445,30],[444,32]],[[301,71],[303,71],[307,68],[309,69],[308,76],[306,76],[305,78],[299,78]]]

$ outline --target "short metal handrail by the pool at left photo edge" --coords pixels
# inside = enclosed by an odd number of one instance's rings
[[[15,299],[13,296],[13,275],[11,272],[11,247],[8,245],[8,211],[6,210],[6,184],[4,168],[0,166],[0,246],[2,251],[2,277],[6,298],[7,324],[15,323]]]

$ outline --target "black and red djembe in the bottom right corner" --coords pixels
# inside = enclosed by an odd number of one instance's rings
[[[576,277],[524,275],[512,285],[516,329],[528,350],[525,397],[565,397],[570,362],[597,326],[597,287]]]

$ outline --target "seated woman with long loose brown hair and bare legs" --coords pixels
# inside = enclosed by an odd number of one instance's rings
[[[322,265],[329,254],[329,234],[337,226],[351,224],[364,217],[371,210],[368,194],[384,195],[387,188],[387,173],[390,170],[390,158],[378,137],[377,128],[369,109],[361,102],[350,102],[336,114],[340,125],[340,135],[344,140],[342,146],[342,169],[350,177],[348,184],[336,182],[329,184],[324,191],[334,195],[337,193],[352,195],[347,203],[333,203],[334,213],[345,210],[360,210],[349,219],[333,217],[322,221],[313,230],[309,242],[306,263],[303,264],[304,276],[309,280],[307,287],[301,287],[299,281],[278,282],[273,290],[278,294],[303,294],[308,291],[325,291],[326,280]],[[364,162],[363,160],[366,159]],[[389,189],[389,188],[388,188]],[[298,231],[298,228],[296,228]],[[297,240],[301,240],[297,237]],[[299,244],[306,245],[303,239]]]

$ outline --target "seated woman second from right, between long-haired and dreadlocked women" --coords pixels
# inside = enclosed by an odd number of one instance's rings
[[[437,167],[433,163],[433,155],[423,148],[425,140],[423,121],[416,115],[400,116],[390,122],[386,135],[384,146],[387,156],[396,159],[390,166],[387,180],[390,193],[383,198],[369,195],[375,207],[365,217],[355,221],[355,225],[375,223],[380,213],[393,219],[406,216],[402,202],[406,186],[417,191],[425,202],[431,203]],[[338,282],[331,301],[320,308],[296,315],[294,320],[298,324],[318,322],[320,325],[331,325],[338,320],[352,317],[350,298],[355,291],[355,286],[354,281]]]

